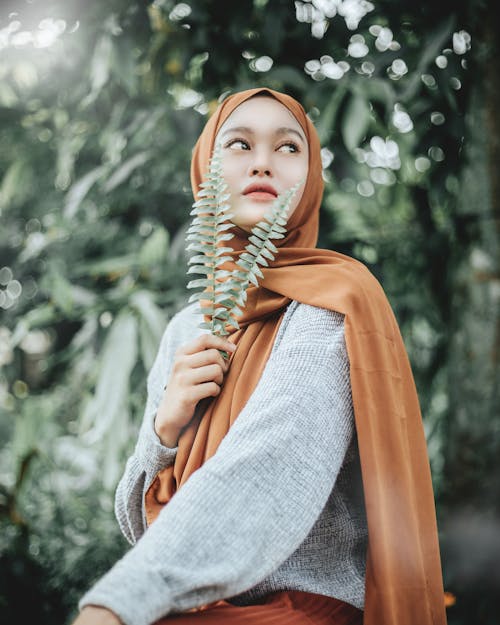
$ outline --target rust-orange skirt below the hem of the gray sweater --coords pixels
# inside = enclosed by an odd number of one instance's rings
[[[362,625],[363,612],[348,603],[298,590],[269,595],[263,603],[217,601],[195,612],[173,614],[155,625]]]

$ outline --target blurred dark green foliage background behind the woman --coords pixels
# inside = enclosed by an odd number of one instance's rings
[[[375,2],[353,30],[324,14],[333,4],[2,3],[2,622],[69,622],[126,549],[113,489],[161,333],[189,296],[190,151],[218,98],[257,85],[314,119],[326,148],[319,246],[366,262],[401,324],[457,599],[449,622],[500,622],[493,4]],[[14,45],[48,18],[61,31],[52,45]],[[374,25],[400,48],[377,49]],[[356,56],[350,44],[363,43]],[[350,69],[328,77],[339,72],[328,56]]]

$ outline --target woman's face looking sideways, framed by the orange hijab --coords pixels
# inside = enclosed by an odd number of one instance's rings
[[[271,97],[250,98],[226,119],[216,141],[222,143],[231,221],[250,232],[276,196],[302,180],[290,206],[291,217],[304,191],[309,149],[290,111]]]

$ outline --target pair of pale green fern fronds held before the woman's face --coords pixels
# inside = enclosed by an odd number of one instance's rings
[[[236,260],[237,268],[233,271],[219,269],[226,261],[233,260],[230,254],[234,253],[232,247],[221,245],[234,237],[230,232],[234,226],[230,221],[233,215],[227,203],[230,196],[222,177],[221,156],[222,147],[217,144],[190,212],[193,219],[187,231],[186,240],[190,243],[186,249],[195,254],[189,259],[187,273],[206,277],[191,280],[187,287],[203,289],[192,294],[188,300],[203,300],[199,312],[210,321],[204,319],[199,327],[210,330],[212,334],[226,336],[229,334],[227,325],[239,328],[236,317],[243,314],[247,288],[250,284],[258,286],[258,279],[264,277],[259,265],[269,266],[268,261],[274,260],[278,252],[271,239],[281,239],[286,235],[290,203],[301,183],[277,197],[265,218],[252,228],[249,243]]]

